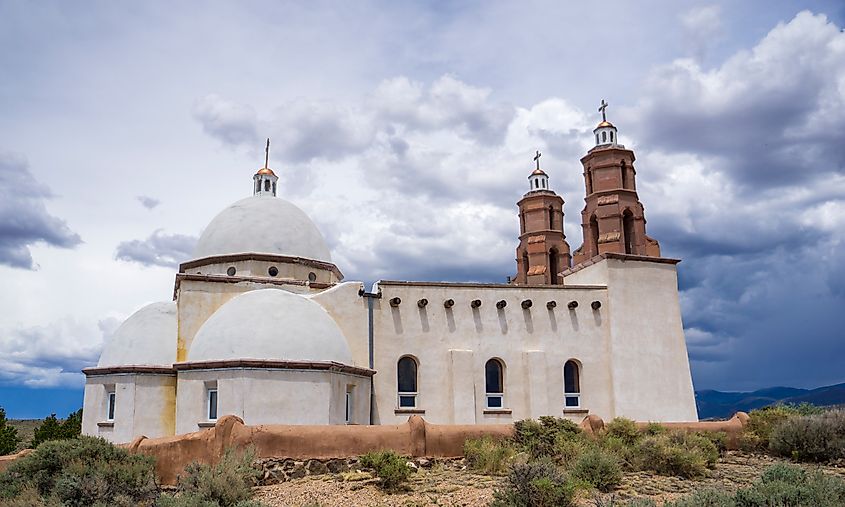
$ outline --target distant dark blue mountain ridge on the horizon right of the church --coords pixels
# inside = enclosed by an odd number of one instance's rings
[[[730,417],[775,403],[811,403],[818,406],[845,404],[845,383],[816,389],[767,387],[750,393],[713,390],[695,392],[699,419]]]

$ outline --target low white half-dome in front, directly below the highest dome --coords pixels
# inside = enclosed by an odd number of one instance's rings
[[[311,299],[282,289],[234,297],[197,331],[188,361],[263,359],[352,364],[346,338]]]

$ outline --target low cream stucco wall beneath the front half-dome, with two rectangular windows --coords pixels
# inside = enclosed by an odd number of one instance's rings
[[[232,414],[247,425],[345,424],[346,390],[354,392],[353,423],[366,424],[370,379],[332,371],[229,368],[178,373],[176,432],[208,423],[206,390],[216,383],[218,417]]]

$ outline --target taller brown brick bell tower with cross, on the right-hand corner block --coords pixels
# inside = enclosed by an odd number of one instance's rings
[[[606,108],[602,100],[602,121],[593,130],[596,146],[581,159],[587,197],[581,212],[584,243],[575,251],[575,264],[606,252],[660,257],[660,245],[645,233],[634,152],[619,144],[616,127],[607,121]]]

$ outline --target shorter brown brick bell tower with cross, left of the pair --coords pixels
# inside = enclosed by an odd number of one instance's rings
[[[519,285],[557,285],[569,268],[571,255],[563,233],[563,198],[549,189],[549,176],[537,168],[528,176],[529,190],[519,206],[519,246],[516,280]]]

